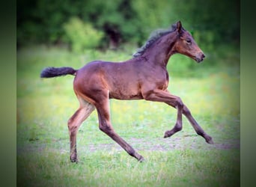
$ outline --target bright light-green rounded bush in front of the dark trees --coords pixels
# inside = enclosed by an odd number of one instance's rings
[[[93,49],[100,45],[103,33],[95,30],[90,23],[82,22],[81,19],[73,17],[64,24],[64,31],[72,43],[75,52],[84,52],[85,49]]]

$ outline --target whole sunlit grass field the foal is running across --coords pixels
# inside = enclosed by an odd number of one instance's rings
[[[181,70],[182,76],[175,67],[187,58],[177,55],[169,63],[168,70],[174,67],[174,72],[168,90],[183,99],[215,144],[196,135],[185,117],[181,132],[162,138],[177,117],[168,105],[113,99],[116,132],[145,162],[137,162],[100,132],[94,111],[79,129],[79,164],[70,163],[67,120],[79,106],[73,76],[40,79],[40,71],[128,58],[129,52],[76,55],[38,46],[17,52],[17,186],[240,186],[240,67],[236,62],[210,67],[206,59],[195,64],[194,73]]]

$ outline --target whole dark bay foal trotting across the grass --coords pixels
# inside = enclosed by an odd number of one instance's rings
[[[192,35],[186,31],[181,22],[177,22],[165,31],[159,31],[150,37],[134,58],[128,61],[113,63],[107,61],[92,61],[79,70],[72,67],[47,67],[40,76],[50,78],[75,76],[73,90],[79,100],[79,108],[68,120],[70,134],[70,161],[78,162],[76,151],[76,133],[79,126],[97,109],[100,130],[116,141],[130,156],[143,161],[139,155],[113,129],[109,114],[109,99],[145,99],[155,102],[165,102],[177,108],[177,121],[171,130],[165,132],[164,138],[174,135],[182,129],[182,114],[192,124],[195,132],[213,144],[210,135],[198,125],[189,108],[178,96],[168,92],[168,72],[166,66],[171,55],[180,53],[194,59],[198,63],[204,60],[204,53],[195,43]]]

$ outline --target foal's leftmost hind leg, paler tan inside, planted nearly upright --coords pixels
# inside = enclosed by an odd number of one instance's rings
[[[78,162],[77,159],[77,150],[76,150],[76,134],[81,126],[82,122],[87,119],[87,117],[94,111],[94,105],[86,102],[85,100],[79,99],[80,107],[79,109],[70,117],[68,120],[67,126],[69,129],[70,135],[70,161]]]

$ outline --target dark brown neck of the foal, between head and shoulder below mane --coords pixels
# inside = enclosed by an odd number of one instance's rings
[[[156,42],[144,53],[145,57],[154,65],[166,67],[169,58],[175,53],[173,47],[177,41],[177,37],[176,32],[173,31],[170,34],[166,34],[159,38],[159,40],[156,40]]]

